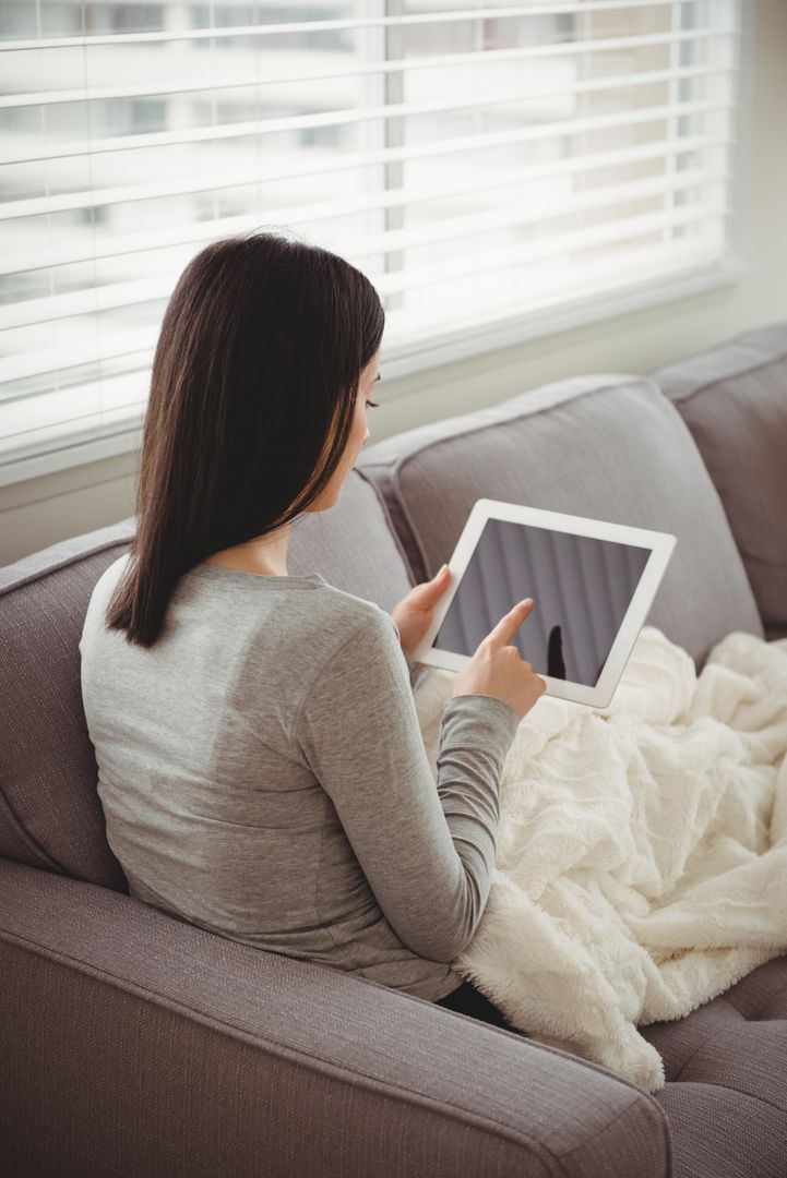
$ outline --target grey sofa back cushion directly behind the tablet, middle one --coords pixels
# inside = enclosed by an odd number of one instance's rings
[[[386,438],[358,465],[385,496],[417,580],[449,560],[477,498],[505,499],[675,535],[647,621],[697,670],[730,630],[763,636],[710,476],[648,377],[560,380]]]

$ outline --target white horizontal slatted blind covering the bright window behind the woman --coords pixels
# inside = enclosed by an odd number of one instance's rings
[[[219,237],[340,253],[384,355],[723,263],[739,16],[4,0],[0,482],[138,444],[168,296]]]

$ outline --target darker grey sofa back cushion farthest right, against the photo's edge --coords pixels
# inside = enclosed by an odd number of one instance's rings
[[[659,369],[743,558],[766,636],[787,636],[787,323]]]

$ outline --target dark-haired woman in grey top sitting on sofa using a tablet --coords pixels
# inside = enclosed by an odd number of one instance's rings
[[[505,646],[531,607],[456,676],[435,789],[394,618],[287,573],[291,523],[337,502],[369,437],[383,326],[369,279],[317,246],[254,233],[186,266],[137,534],[80,641],[98,792],[132,896],[508,1025],[451,961],[488,898],[503,760],[544,689]],[[403,605],[412,649],[428,622]]]

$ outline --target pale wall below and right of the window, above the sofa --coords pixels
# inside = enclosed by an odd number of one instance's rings
[[[581,372],[650,372],[750,327],[787,319],[787,2],[754,5],[738,284],[386,379],[372,441],[496,404]],[[138,452],[0,488],[0,564],[134,512]]]

